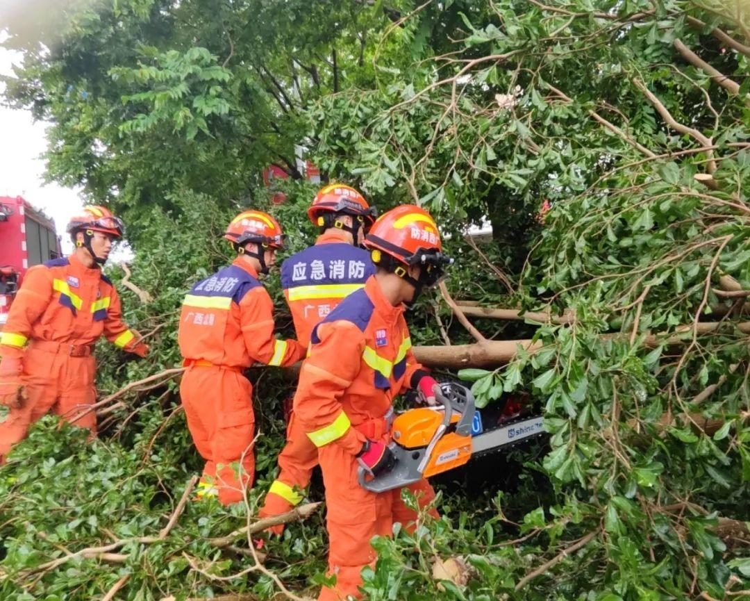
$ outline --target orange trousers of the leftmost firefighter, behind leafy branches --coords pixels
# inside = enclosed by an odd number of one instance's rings
[[[28,398],[0,422],[0,463],[13,444],[26,438],[28,427],[49,411],[96,435],[96,413],[86,411],[96,402],[93,356],[47,353],[32,345],[26,349],[23,365],[21,383]]]

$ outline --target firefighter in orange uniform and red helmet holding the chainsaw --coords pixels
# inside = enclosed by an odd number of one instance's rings
[[[394,398],[415,388],[434,404],[437,386],[414,359],[404,320],[404,303],[436,284],[450,262],[437,225],[425,210],[400,206],[375,222],[365,246],[376,273],[314,328],[294,398],[297,418],[317,446],[326,486],[329,575],[336,578],[320,592],[326,600],[359,596],[360,572],[376,559],[373,536],[390,536],[397,521],[415,527],[418,515],[401,500],[401,490],[367,491],[357,472],[363,467],[377,476],[392,467]],[[424,479],[408,488],[422,507],[434,500]]]

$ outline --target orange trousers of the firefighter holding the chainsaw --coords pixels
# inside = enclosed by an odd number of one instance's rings
[[[329,533],[329,575],[336,576],[334,587],[323,587],[319,601],[338,601],[347,595],[360,597],[362,568],[374,565],[376,554],[370,540],[376,534],[391,536],[393,524],[400,521],[413,529],[416,513],[401,500],[401,489],[383,494],[366,491],[357,481],[359,463],[341,446],[329,444],[318,449],[323,482],[326,485],[326,527]],[[435,498],[427,480],[408,488],[419,505]],[[434,509],[430,511],[437,518]]]

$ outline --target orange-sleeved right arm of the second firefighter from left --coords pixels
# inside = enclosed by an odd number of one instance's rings
[[[274,336],[274,304],[264,287],[252,288],[242,297],[239,318],[245,347],[255,361],[284,367],[305,356],[305,347],[296,340]]]

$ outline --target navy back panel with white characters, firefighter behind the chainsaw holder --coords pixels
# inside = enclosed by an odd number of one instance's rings
[[[370,254],[346,242],[319,244],[293,254],[281,265],[281,287],[364,284],[375,268]]]

